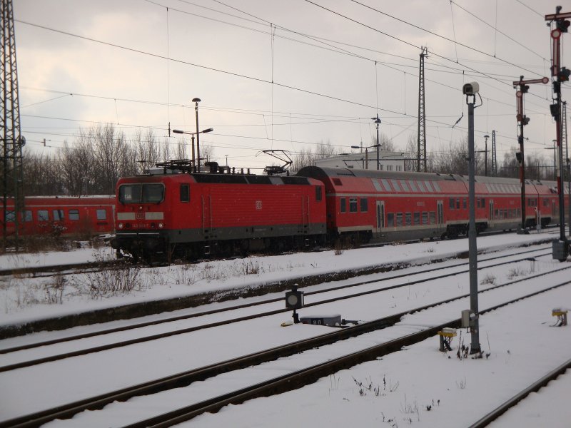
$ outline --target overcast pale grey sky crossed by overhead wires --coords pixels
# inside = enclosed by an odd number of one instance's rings
[[[420,46],[428,46],[427,150],[465,138],[462,86],[477,81],[483,104],[475,111],[475,141],[483,149],[483,136],[495,130],[501,161],[517,146],[512,81],[550,76],[544,16],[557,4],[16,0],[22,133],[46,154],[73,143],[80,128],[105,123],[127,138],[150,128],[175,144],[180,136],[168,138],[168,123],[195,131],[191,100],[198,97],[200,129],[214,128],[201,144],[238,168],[271,164],[256,156],[264,149],[370,146],[377,114],[380,132],[403,150],[416,140]],[[571,34],[562,46],[562,65],[571,68]],[[563,100],[570,87],[565,83]],[[532,85],[525,96],[525,150],[546,163],[555,138],[551,96],[550,83]]]

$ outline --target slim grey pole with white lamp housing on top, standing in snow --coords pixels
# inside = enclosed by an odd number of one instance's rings
[[[472,100],[470,101],[470,97]],[[470,323],[472,343],[470,354],[480,353],[480,322],[477,305],[477,245],[476,245],[476,210],[475,210],[475,153],[474,153],[474,104],[475,95],[466,95],[468,104],[468,201],[470,208],[470,225],[468,227],[468,253],[470,265]]]

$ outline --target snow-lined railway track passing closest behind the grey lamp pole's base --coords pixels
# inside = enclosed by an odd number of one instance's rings
[[[542,275],[549,275],[549,273],[551,272],[547,272]],[[512,282],[510,285],[513,285],[516,282],[529,281],[530,279],[532,278],[525,277],[521,280]],[[567,285],[568,283],[569,281],[563,282],[556,285],[555,287],[562,287],[564,285]],[[491,290],[495,290],[498,287],[505,287],[506,285],[500,285],[494,287]],[[549,287],[546,290],[550,290],[552,288],[553,287]],[[491,290],[485,290],[482,292],[488,292]],[[537,295],[537,293],[545,292],[546,290],[540,290],[537,292],[529,293],[528,295],[525,296],[519,296],[515,300],[511,300],[510,302],[515,302],[522,298],[529,298],[532,295]],[[432,303],[430,305],[425,305],[423,307],[417,307],[415,308],[415,310],[401,312],[395,315],[391,315],[390,317],[374,320],[372,322],[365,322],[361,325],[348,327],[347,329],[333,331],[328,333],[328,335],[315,337],[308,340],[298,341],[293,344],[284,345],[282,347],[276,347],[271,350],[265,350],[264,352],[257,352],[256,354],[248,355],[246,357],[239,357],[238,359],[229,360],[224,363],[218,363],[216,365],[211,365],[208,367],[201,367],[198,370],[191,370],[190,372],[179,373],[168,378],[158,379],[155,382],[146,382],[146,384],[139,384],[136,385],[136,387],[122,389],[119,391],[112,392],[110,394],[103,394],[98,397],[94,397],[92,399],[82,400],[81,402],[74,402],[73,404],[68,404],[66,406],[59,406],[56,409],[49,409],[46,410],[45,412],[29,414],[26,415],[26,417],[21,417],[19,419],[12,419],[10,421],[2,422],[0,424],[0,427],[37,426],[38,424],[47,422],[54,418],[70,417],[71,415],[80,412],[82,409],[101,408],[103,407],[103,405],[107,404],[108,402],[112,402],[115,400],[123,401],[124,399],[128,399],[129,397],[133,397],[135,395],[156,393],[157,391],[163,389],[181,387],[184,384],[191,384],[193,382],[196,382],[197,380],[207,379],[209,377],[215,376],[216,374],[228,372],[228,370],[237,370],[238,368],[250,367],[252,365],[259,365],[261,362],[276,360],[276,358],[283,357],[284,355],[293,355],[298,352],[302,352],[303,350],[313,349],[314,347],[323,347],[328,345],[328,343],[338,342],[339,340],[347,340],[349,337],[365,335],[369,332],[374,332],[379,329],[384,329],[391,325],[395,325],[395,322],[398,322],[398,320],[400,320],[400,318],[403,317],[404,315],[427,310],[430,307],[444,305],[447,302],[452,302],[454,300],[462,299],[463,297],[466,297],[466,295],[454,297],[453,299],[445,300],[443,302]],[[500,305],[489,307],[486,310],[480,311],[480,313],[484,314],[486,312],[496,310],[500,307],[503,307],[504,305],[509,304],[510,302],[503,302]],[[299,382],[302,382],[303,379],[309,382],[310,381],[309,379],[315,379],[315,377],[323,377],[324,375],[326,375],[324,373],[328,372],[328,370],[333,370],[333,372],[335,372],[340,370],[340,367],[350,367],[351,365],[358,364],[359,358],[361,359],[365,358],[366,360],[370,359],[373,355],[375,356],[383,355],[383,352],[393,352],[394,350],[400,349],[400,347],[402,347],[403,345],[406,344],[410,345],[420,340],[424,340],[426,337],[435,335],[435,332],[444,326],[448,327],[456,326],[458,325],[458,322],[459,320],[448,320],[448,322],[444,322],[443,324],[423,329],[423,331],[416,332],[413,335],[407,335],[406,337],[398,338],[398,340],[395,339],[394,341],[387,342],[382,346],[380,345],[380,347],[373,347],[370,350],[362,350],[355,355],[350,355],[350,356],[345,355],[345,357],[335,359],[335,362],[332,361],[327,365],[324,365],[323,367],[310,367],[295,375],[292,374],[293,377],[283,377],[283,379],[277,379],[277,380],[273,379],[271,382],[263,382],[263,384],[257,384],[255,387],[248,387],[248,391],[246,391],[245,389],[237,392],[236,394],[231,394],[231,396],[224,396],[222,399],[217,399],[215,402],[213,402],[212,400],[208,400],[208,402],[195,404],[193,405],[192,408],[188,407],[186,409],[183,409],[182,411],[177,410],[175,413],[169,414],[168,418],[165,420],[158,420],[156,418],[153,418],[153,419],[148,419],[145,422],[141,422],[141,425],[136,424],[133,426],[143,426],[142,424],[145,424],[145,426],[148,425],[154,426],[153,424],[156,424],[156,426],[167,426],[168,424],[172,424],[179,420],[183,419],[186,420],[188,419],[188,417],[193,417],[193,415],[196,415],[200,412],[212,411],[217,406],[219,408],[223,405],[226,405],[228,402],[241,402],[244,399],[248,399],[248,397],[256,396],[256,394],[268,394],[268,390],[272,391],[281,390],[282,387],[285,387],[287,385],[289,385],[289,387],[295,387],[295,385],[299,385]]]

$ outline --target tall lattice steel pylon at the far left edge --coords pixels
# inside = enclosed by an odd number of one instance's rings
[[[6,250],[6,220],[14,222],[14,240],[18,250],[19,225],[24,220],[24,193],[22,170],[22,147],[25,144],[20,134],[20,106],[18,99],[18,73],[16,67],[16,36],[14,34],[14,9],[12,0],[0,0],[1,14],[1,192],[2,192],[2,241]],[[14,209],[7,210],[9,200],[14,200]]]

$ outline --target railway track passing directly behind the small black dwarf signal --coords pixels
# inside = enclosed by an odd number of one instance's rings
[[[494,256],[494,257],[486,258],[485,260],[480,260],[480,265],[478,266],[478,269],[479,270],[485,270],[485,269],[488,269],[490,267],[509,265],[512,263],[520,263],[520,262],[525,261],[525,260],[530,260],[531,258],[533,258],[532,255],[535,255],[535,257],[550,255],[550,253],[545,253],[545,252],[542,253],[542,250],[543,249],[525,250],[525,251],[518,253],[517,258],[514,258],[512,260],[504,260],[502,262],[497,262],[497,263],[492,263],[492,262],[495,262],[496,260],[505,259],[505,258],[511,259],[511,258],[513,258],[513,256],[512,255],[500,255],[500,256]],[[401,287],[409,287],[410,285],[422,284],[422,283],[430,282],[433,280],[444,279],[446,277],[451,277],[451,276],[455,276],[455,275],[463,275],[463,274],[467,273],[468,270],[465,270],[465,269],[464,270],[455,270],[455,269],[459,269],[459,268],[465,267],[467,265],[468,265],[468,263],[464,263],[464,262],[463,263],[454,263],[453,265],[448,265],[445,267],[442,267],[442,266],[430,267],[430,268],[426,268],[423,270],[419,270],[419,271],[416,271],[414,275],[411,275],[408,272],[403,273],[403,274],[398,274],[398,275],[390,275],[390,276],[385,275],[382,278],[375,278],[375,279],[371,279],[371,280],[351,282],[350,284],[338,285],[338,286],[333,286],[333,287],[327,287],[327,288],[324,288],[321,290],[309,291],[309,292],[305,293],[305,295],[308,297],[309,296],[315,296],[315,295],[323,295],[324,293],[328,293],[328,292],[337,292],[337,291],[349,290],[349,289],[352,289],[355,287],[360,287],[363,285],[382,284],[383,282],[389,282],[389,281],[393,281],[393,280],[399,280],[399,279],[406,278],[405,282],[400,282],[400,283],[395,284],[395,285],[389,285],[389,286],[385,286],[385,287],[373,287],[370,290],[365,290],[365,291],[361,290],[361,291],[357,291],[357,292],[350,292],[350,293],[343,295],[343,296],[340,296],[340,297],[330,297],[327,299],[322,299],[322,300],[318,300],[315,302],[310,302],[307,305],[305,305],[305,307],[318,307],[320,305],[325,305],[325,304],[328,304],[331,302],[337,302],[338,300],[346,300],[346,299],[351,299],[351,298],[355,298],[355,297],[360,297],[363,295],[371,295],[371,294],[376,294],[379,292],[386,292],[389,290],[395,290],[395,289],[398,289]],[[561,270],[565,270],[565,269],[567,269],[567,267],[561,268]],[[431,275],[430,277],[423,277],[424,275],[434,273],[434,272],[442,272],[444,270],[455,270],[455,271],[447,272],[447,273],[441,273],[440,275]],[[414,280],[414,279],[411,279],[411,277],[420,277],[420,278]],[[24,351],[24,350],[32,350],[32,349],[37,348],[37,347],[48,347],[50,345],[59,345],[59,344],[62,344],[64,342],[71,342],[71,341],[76,341],[76,340],[79,341],[79,340],[87,339],[89,337],[96,337],[96,336],[101,336],[101,335],[111,335],[113,333],[126,332],[129,330],[136,330],[136,329],[141,329],[141,328],[149,327],[149,326],[153,326],[153,325],[166,324],[168,322],[177,322],[177,321],[181,321],[181,320],[189,320],[191,318],[206,317],[207,315],[221,314],[223,312],[243,310],[243,309],[247,309],[247,308],[257,307],[260,305],[271,305],[273,303],[278,303],[278,302],[283,302],[283,297],[274,297],[274,298],[270,298],[270,299],[266,299],[266,300],[259,300],[256,302],[246,303],[243,305],[235,305],[232,307],[224,307],[224,308],[217,309],[217,310],[197,312],[197,313],[192,313],[192,314],[188,314],[188,315],[179,315],[176,317],[168,317],[168,318],[165,318],[162,320],[153,320],[150,322],[141,322],[141,323],[137,323],[137,324],[133,324],[133,325],[126,325],[126,326],[116,327],[116,328],[112,328],[112,329],[99,330],[96,332],[89,332],[89,333],[85,333],[82,335],[59,337],[58,339],[54,339],[54,340],[29,343],[29,344],[20,345],[17,347],[4,348],[4,349],[0,350],[0,355],[6,355],[6,354],[10,354],[12,352],[20,352],[20,351]],[[246,320],[253,320],[253,319],[261,318],[261,317],[268,317],[270,315],[276,315],[276,314],[285,313],[285,312],[289,312],[289,311],[290,310],[288,310],[286,308],[266,310],[263,312],[256,312],[256,313],[253,313],[251,315],[244,315],[241,317],[228,317],[227,319],[220,320],[218,322],[210,322],[207,324],[196,325],[193,327],[181,328],[181,329],[177,329],[177,330],[168,330],[166,332],[158,333],[155,335],[144,335],[142,337],[135,337],[131,340],[122,340],[120,342],[112,342],[112,343],[108,343],[106,345],[98,345],[96,347],[82,348],[79,350],[64,352],[64,353],[56,354],[56,355],[48,355],[45,357],[36,358],[34,360],[20,360],[19,359],[18,362],[14,362],[14,363],[8,364],[8,365],[1,365],[0,366],[0,372],[6,372],[9,370],[16,370],[16,369],[23,368],[23,367],[30,367],[32,365],[44,364],[46,362],[63,360],[65,358],[70,358],[70,357],[78,357],[80,355],[87,355],[87,354],[91,354],[94,352],[111,350],[111,349],[118,348],[118,347],[126,347],[128,345],[134,345],[137,343],[149,342],[152,340],[160,340],[160,339],[163,339],[165,337],[171,337],[174,335],[183,335],[183,334],[190,333],[190,332],[196,332],[198,330],[205,330],[208,328],[214,328],[214,327],[220,327],[222,325],[228,325],[228,324],[231,324],[233,322],[243,322]]]

